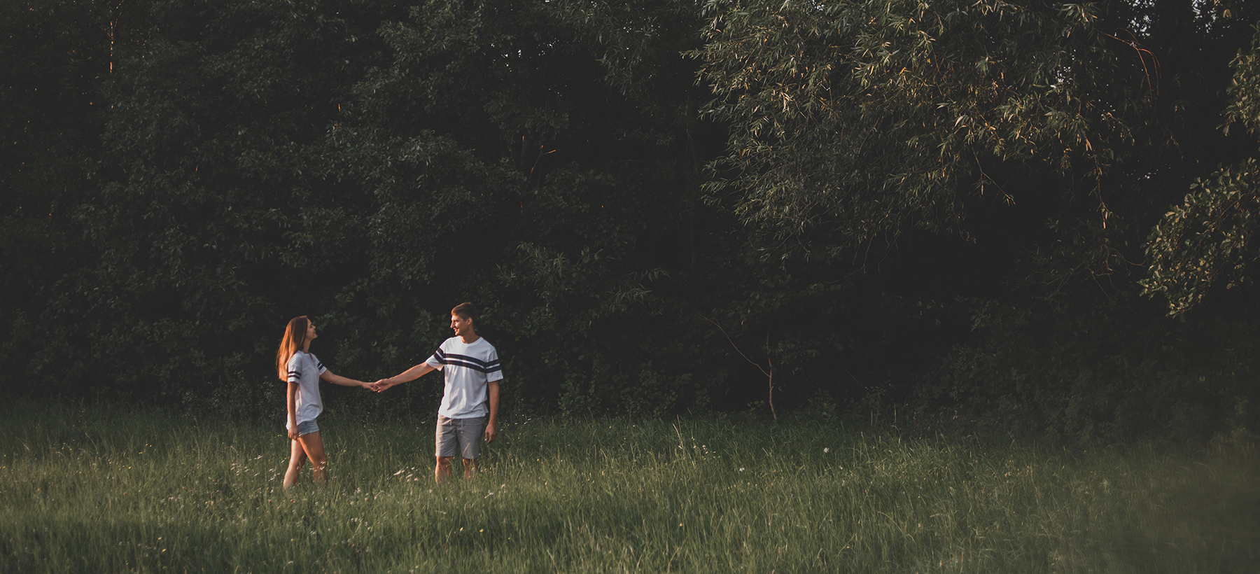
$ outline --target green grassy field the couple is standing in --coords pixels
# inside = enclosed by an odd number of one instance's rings
[[[1252,444],[1062,448],[742,417],[509,420],[432,483],[431,413],[320,427],[9,407],[3,573],[1255,573]]]

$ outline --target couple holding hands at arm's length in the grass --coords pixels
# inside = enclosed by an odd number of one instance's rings
[[[285,472],[285,488],[297,482],[297,475],[306,459],[311,461],[315,482],[328,482],[328,456],[320,438],[315,418],[324,410],[319,394],[319,380],[341,386],[362,386],[383,391],[393,385],[418,379],[432,370],[440,370],[446,381],[442,404],[437,409],[435,436],[437,464],[433,480],[438,483],[451,476],[451,458],[456,446],[464,458],[464,476],[476,471],[478,447],[481,434],[493,442],[499,414],[499,381],[503,368],[499,352],[489,341],[476,334],[476,308],[472,303],[460,303],[451,310],[451,330],[455,336],[437,347],[425,363],[375,383],[346,379],[333,374],[310,352],[311,341],[319,335],[306,316],[294,317],[285,327],[285,337],[276,352],[276,370],[281,380],[289,383],[285,405],[289,409],[289,438],[291,454]]]

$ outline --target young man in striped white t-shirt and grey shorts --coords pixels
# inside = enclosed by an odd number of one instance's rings
[[[428,371],[441,370],[446,379],[442,405],[437,409],[437,466],[433,480],[442,483],[451,477],[451,458],[456,443],[464,457],[464,477],[478,470],[478,443],[481,433],[485,442],[494,442],[494,428],[499,415],[499,351],[476,334],[476,308],[472,303],[460,303],[451,310],[451,330],[455,336],[442,342],[425,363],[398,375],[381,379],[373,390],[382,391],[393,385],[415,380]]]

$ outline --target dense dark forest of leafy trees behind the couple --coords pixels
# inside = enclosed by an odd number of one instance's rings
[[[16,0],[6,397],[1256,429],[1250,0]],[[441,389],[329,389],[433,409]],[[278,418],[277,418],[278,420]]]

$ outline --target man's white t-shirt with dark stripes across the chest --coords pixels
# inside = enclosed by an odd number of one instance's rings
[[[425,361],[440,369],[446,380],[437,414],[446,418],[476,418],[490,413],[486,384],[503,380],[499,351],[484,337],[464,342],[450,337]]]

